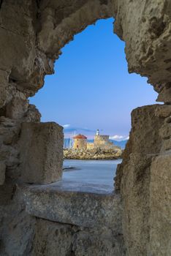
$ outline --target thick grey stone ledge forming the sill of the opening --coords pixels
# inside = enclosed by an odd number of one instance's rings
[[[58,181],[22,189],[28,214],[80,227],[113,227],[122,233],[121,198],[111,187]]]

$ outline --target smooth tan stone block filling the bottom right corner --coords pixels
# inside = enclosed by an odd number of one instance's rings
[[[171,155],[153,159],[150,186],[150,252],[171,255]]]

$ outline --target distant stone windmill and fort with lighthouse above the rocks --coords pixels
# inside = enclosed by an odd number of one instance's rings
[[[100,135],[99,129],[96,130],[96,135],[94,136],[94,143],[90,143],[87,141],[87,137],[85,135],[76,135],[74,139],[73,148],[74,149],[94,149],[94,148],[101,148],[101,149],[114,149],[120,148],[115,146],[110,141],[109,135]],[[121,148],[120,148],[121,149]]]

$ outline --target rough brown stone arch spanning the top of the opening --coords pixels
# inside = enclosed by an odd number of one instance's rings
[[[14,94],[18,89],[34,94],[67,42],[99,18],[112,16],[115,32],[126,42],[129,71],[148,76],[159,100],[170,102],[170,1],[75,0],[70,5],[51,0],[1,4],[1,45],[8,49],[1,47],[2,105],[9,100],[9,83]]]

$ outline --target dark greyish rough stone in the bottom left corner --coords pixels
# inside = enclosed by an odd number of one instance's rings
[[[26,214],[23,196],[9,180],[0,186],[0,255],[30,256],[36,219]]]

